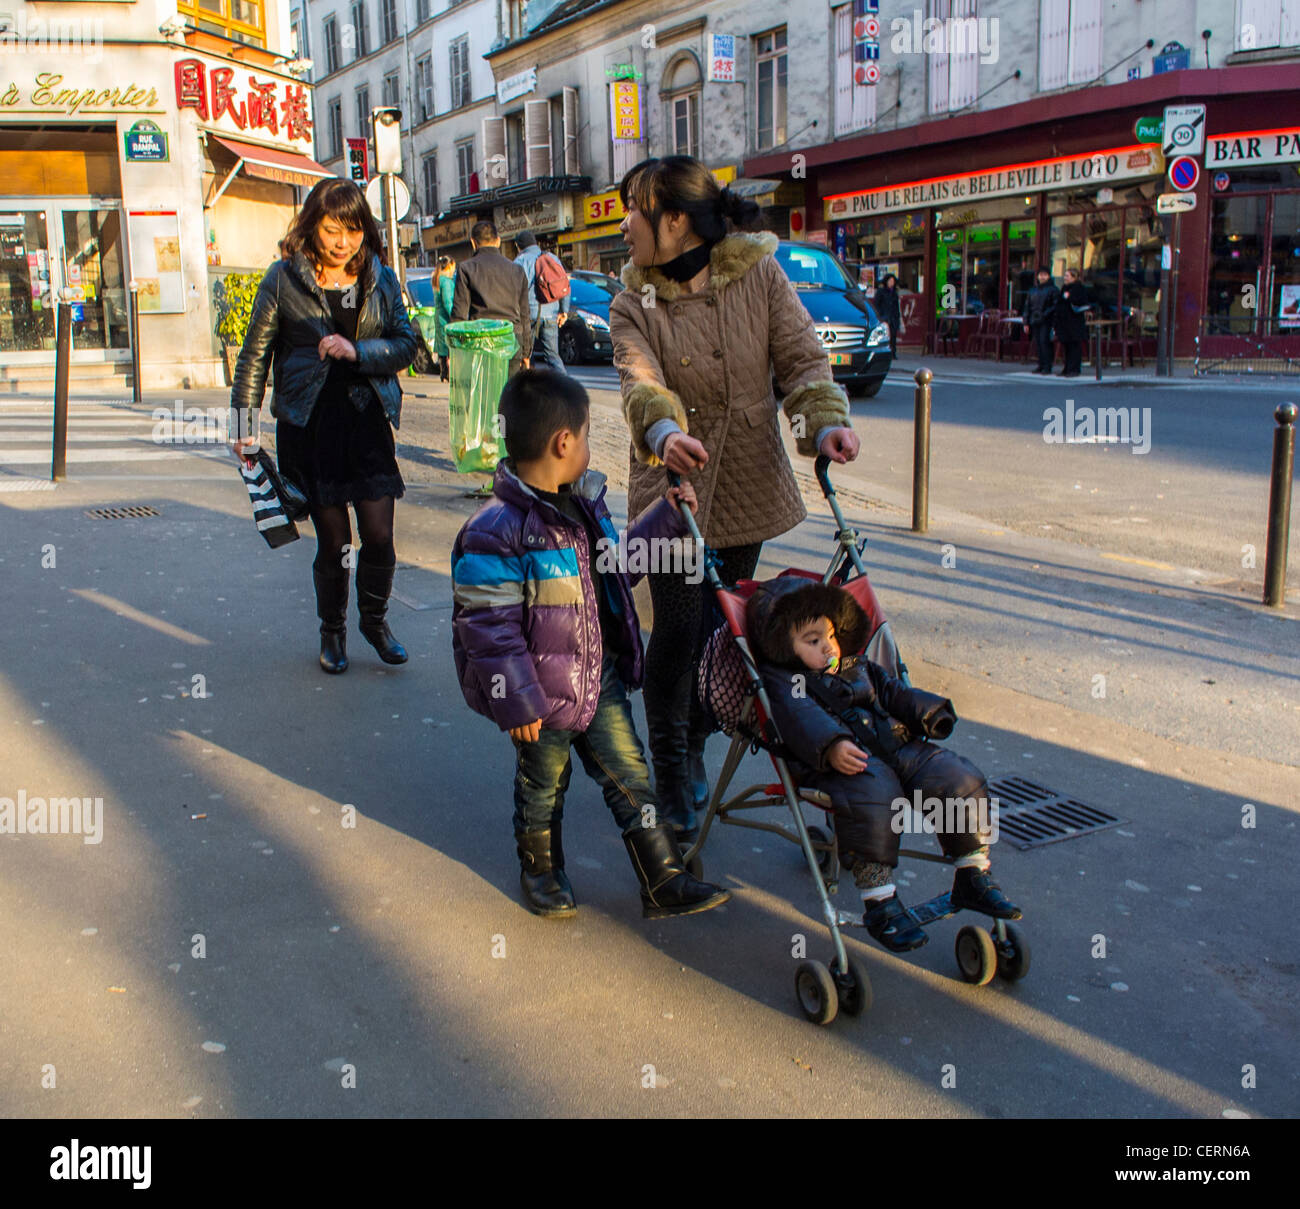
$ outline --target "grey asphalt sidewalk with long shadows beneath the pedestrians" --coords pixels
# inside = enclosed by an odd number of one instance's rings
[[[508,742],[465,708],[451,666],[447,558],[476,504],[438,443],[445,387],[411,385],[391,618],[411,650],[402,668],[377,660],[350,610],[352,667],[320,673],[309,529],[266,550],[229,462],[195,452],[0,495],[0,604],[22,640],[0,677],[0,796],[104,802],[100,844],[0,836],[13,939],[8,1114],[1300,1112],[1294,927],[1275,907],[1295,867],[1300,774],[1278,762],[1295,751],[1294,702],[1273,716],[1270,759],[1214,750],[1204,727],[1182,741],[1127,725],[1121,694],[1092,701],[1087,680],[1046,701],[1010,682],[1023,668],[1001,666],[1023,630],[1041,630],[1057,649],[1086,646],[1089,633],[1118,638],[1130,654],[1114,650],[1115,660],[1145,672],[1165,634],[1169,658],[1182,645],[1217,660],[1197,679],[1228,694],[1228,645],[1257,664],[1244,675],[1294,684],[1300,644],[1274,637],[1290,660],[1274,667],[1257,649],[1270,627],[1294,636],[1294,610],[1265,623],[1223,603],[1216,616],[1145,578],[1117,597],[1123,575],[1034,567],[1027,547],[991,534],[971,563],[1023,559],[1039,585],[1008,593],[991,577],[1004,606],[993,612],[957,581],[936,581],[933,542],[846,500],[872,533],[868,560],[914,680],[957,701],[957,750],[991,776],[1027,775],[1126,822],[998,850],[1000,876],[1027,909],[1023,983],[954,979],[953,937],[967,918],[907,959],[855,932],[848,942],[875,1008],[816,1030],[794,1005],[792,939],[819,959],[828,942],[798,854],[775,837],[720,829],[706,875],[733,901],[647,923],[599,793],[575,776],[566,846],[578,918],[556,926],[519,907]],[[614,400],[598,394],[593,460],[618,472],[627,441]],[[84,515],[117,503],[160,515]],[[814,515],[771,543],[764,568],[815,564],[829,552],[826,530]],[[1052,549],[1058,563],[1069,552]],[[1062,597],[1071,578],[1079,586]],[[1147,646],[1115,628],[1139,597],[1150,616],[1130,620]],[[935,620],[944,599],[1002,645],[946,650]],[[1040,608],[1071,611],[1075,637],[1063,644],[1060,616],[1043,621]],[[1152,667],[1157,710],[1191,692],[1180,668]],[[722,758],[715,741],[712,772]],[[741,783],[770,777],[750,757]],[[944,880],[916,866],[902,878],[909,901]],[[852,900],[845,885],[838,905]],[[1245,1062],[1257,1088],[1242,1087]],[[40,1086],[46,1063],[56,1089]],[[956,1088],[941,1087],[946,1063]]]

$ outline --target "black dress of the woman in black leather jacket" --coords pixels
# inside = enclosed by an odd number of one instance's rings
[[[348,290],[352,287],[325,290],[325,298],[334,328],[355,344],[360,308],[343,304]],[[364,407],[348,396],[348,387],[358,384],[365,386]],[[307,426],[283,420],[276,424],[276,454],[280,473],[303,489],[313,508],[387,495],[400,499],[406,491],[389,417],[355,361],[330,360]]]

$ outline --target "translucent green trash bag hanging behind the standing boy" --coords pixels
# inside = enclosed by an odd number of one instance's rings
[[[497,406],[519,348],[515,326],[504,318],[447,324],[451,361],[451,456],[462,473],[491,473],[500,459]]]

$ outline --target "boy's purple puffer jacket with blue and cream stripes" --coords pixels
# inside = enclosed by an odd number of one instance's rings
[[[616,546],[604,476],[589,471],[572,490],[598,532]],[[493,491],[495,499],[465,523],[451,551],[451,641],[460,689],[469,707],[502,731],[537,718],[547,729],[585,731],[595,715],[603,655],[588,530],[540,499],[508,459],[497,467]],[[684,532],[679,512],[659,499],[629,525],[627,540]],[[644,671],[632,601],[636,578],[640,575],[602,576],[620,621],[619,649],[611,654],[629,688],[640,688]]]

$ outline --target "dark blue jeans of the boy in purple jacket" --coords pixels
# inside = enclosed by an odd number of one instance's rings
[[[515,741],[515,832],[542,831],[564,812],[564,793],[572,772],[571,749],[601,786],[620,831],[642,822],[641,807],[650,805],[658,818],[658,800],[650,788],[645,749],[632,722],[632,703],[608,655],[601,664],[601,699],[586,731],[542,729],[537,742]]]

